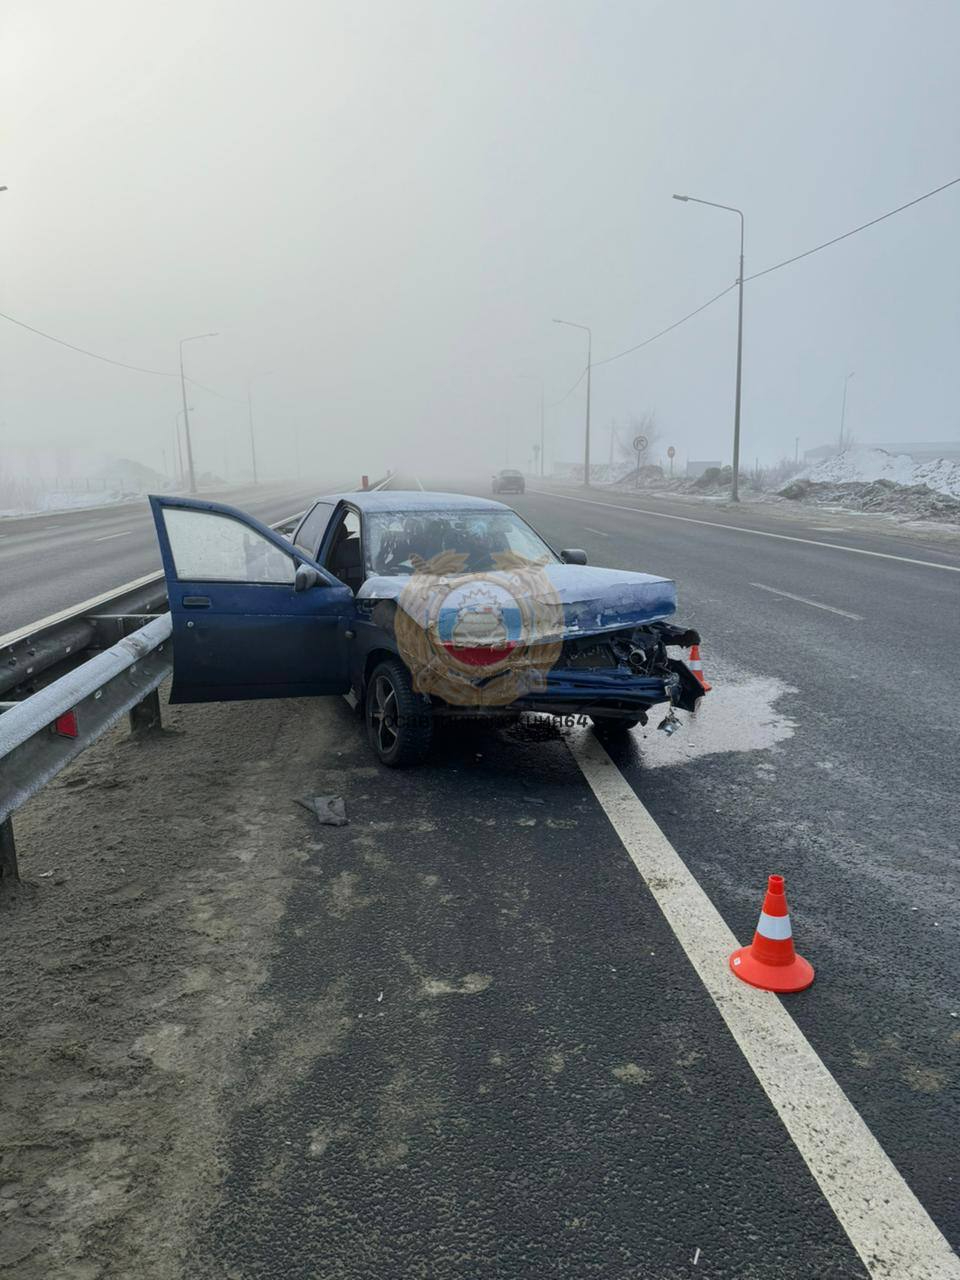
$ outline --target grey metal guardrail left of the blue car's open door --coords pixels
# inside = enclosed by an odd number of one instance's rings
[[[302,515],[270,527],[292,532]],[[124,713],[134,735],[160,727],[159,689],[173,671],[165,605],[164,575],[147,573],[0,636],[0,888],[19,879],[17,809]]]

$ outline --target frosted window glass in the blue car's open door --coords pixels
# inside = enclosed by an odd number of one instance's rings
[[[239,520],[166,507],[164,525],[182,582],[293,582],[293,558]]]

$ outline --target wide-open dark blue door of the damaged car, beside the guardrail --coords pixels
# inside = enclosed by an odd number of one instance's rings
[[[150,506],[173,617],[170,701],[347,691],[349,588],[233,507],[192,498]]]

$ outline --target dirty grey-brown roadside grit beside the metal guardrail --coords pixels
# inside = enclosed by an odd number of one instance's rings
[[[219,1192],[241,1050],[270,1028],[275,927],[320,870],[320,828],[293,801],[348,717],[164,705],[161,733],[122,724],[17,815],[0,1276],[182,1275],[188,1224]]]

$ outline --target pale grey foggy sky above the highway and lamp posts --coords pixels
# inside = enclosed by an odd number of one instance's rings
[[[540,381],[960,174],[960,6],[891,0],[6,0],[0,310],[188,371],[200,468],[522,465]],[[957,439],[960,187],[748,285],[744,463]],[[593,378],[728,458],[736,293]],[[0,321],[0,433],[161,465],[179,383]],[[547,411],[582,449],[584,385]],[[625,431],[626,434],[626,431]],[[300,456],[297,457],[297,449]]]

